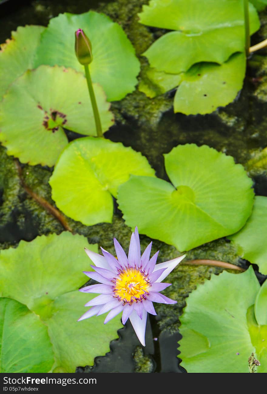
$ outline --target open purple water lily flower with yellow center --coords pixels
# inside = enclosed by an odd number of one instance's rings
[[[159,251],[151,258],[152,242],[141,256],[138,229],[131,236],[128,257],[119,242],[114,238],[114,246],[118,260],[101,248],[103,256],[85,249],[94,262],[91,267],[95,271],[84,272],[89,278],[100,282],[80,289],[85,293],[101,293],[85,304],[91,307],[80,320],[94,315],[108,313],[104,323],[122,312],[122,323],[130,319],[134,331],[141,344],[145,346],[146,319],[148,312],[156,315],[153,302],[175,304],[174,301],[160,292],[171,283],[161,283],[179,264],[185,255],[156,265]]]

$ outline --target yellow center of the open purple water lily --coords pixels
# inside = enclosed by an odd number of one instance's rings
[[[124,303],[132,304],[134,301],[146,299],[150,282],[148,275],[136,268],[125,268],[115,278],[113,287],[114,296]]]

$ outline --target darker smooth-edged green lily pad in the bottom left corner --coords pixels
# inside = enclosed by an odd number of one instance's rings
[[[0,372],[47,372],[54,363],[47,327],[25,305],[0,298]]]

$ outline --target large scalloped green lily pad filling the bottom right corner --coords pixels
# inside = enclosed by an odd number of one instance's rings
[[[261,362],[257,372],[267,372],[267,344],[262,342],[267,326],[256,323],[253,308],[259,288],[250,267],[241,274],[212,275],[189,295],[179,347],[187,372],[246,373],[252,352]]]

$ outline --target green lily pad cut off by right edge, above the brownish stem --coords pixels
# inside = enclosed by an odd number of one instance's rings
[[[241,256],[253,264],[258,264],[259,270],[267,275],[267,197],[256,196],[246,225],[236,234],[228,238],[241,247]]]

